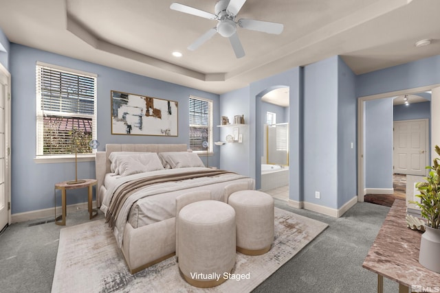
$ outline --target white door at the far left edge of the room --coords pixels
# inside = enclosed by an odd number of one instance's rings
[[[0,231],[10,222],[10,74],[0,64]]]

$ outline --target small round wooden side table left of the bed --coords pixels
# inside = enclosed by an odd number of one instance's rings
[[[67,184],[67,181],[63,181],[55,184],[54,197],[55,197],[55,224],[65,226],[66,224],[66,190],[67,189],[78,189],[78,188],[89,188],[89,214],[90,219],[98,215],[98,209],[92,208],[93,199],[93,186],[96,185],[96,179],[85,179],[85,183],[78,184]],[[56,216],[56,189],[61,189],[61,207],[63,209],[63,214]],[[61,221],[60,221],[61,219]]]

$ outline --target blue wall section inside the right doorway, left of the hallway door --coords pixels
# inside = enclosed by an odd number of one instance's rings
[[[365,102],[365,188],[393,188],[393,97]]]

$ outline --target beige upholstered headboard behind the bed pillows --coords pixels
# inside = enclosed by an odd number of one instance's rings
[[[110,172],[111,152],[186,152],[188,145],[181,144],[142,144],[142,143],[108,143],[104,152],[96,152],[96,198],[100,205],[100,187],[104,183],[105,174]]]

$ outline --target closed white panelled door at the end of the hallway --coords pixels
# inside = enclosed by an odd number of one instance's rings
[[[426,174],[428,165],[428,119],[395,121],[393,131],[394,173]]]

